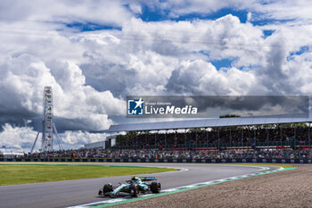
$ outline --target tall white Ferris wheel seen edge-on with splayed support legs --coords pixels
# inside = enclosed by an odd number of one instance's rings
[[[53,93],[51,86],[45,86],[44,88],[43,104],[44,104],[44,112],[43,112],[44,117],[42,121],[41,152],[43,153],[53,152],[53,131],[54,135],[57,138],[57,143],[60,147],[60,150],[62,150],[63,148],[61,144],[61,139],[57,133],[57,130],[53,122]],[[33,146],[31,147],[30,153],[34,151],[34,147],[36,146],[39,133],[40,132],[37,133],[37,137],[35,139]]]

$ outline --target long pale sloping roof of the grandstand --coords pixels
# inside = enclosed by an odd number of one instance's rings
[[[119,132],[131,130],[193,129],[193,128],[250,126],[250,125],[282,124],[282,123],[302,123],[302,122],[312,122],[312,118],[256,117],[256,118],[222,118],[222,119],[186,120],[186,121],[128,123],[128,124],[111,125],[108,131]]]

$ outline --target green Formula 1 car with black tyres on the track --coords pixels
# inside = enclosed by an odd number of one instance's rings
[[[152,181],[152,182],[151,182]],[[150,183],[149,183],[150,182]],[[160,182],[155,177],[132,177],[126,180],[126,183],[120,184],[119,187],[105,184],[99,190],[99,196],[119,196],[121,193],[127,193],[132,197],[138,196],[140,193],[160,193]]]

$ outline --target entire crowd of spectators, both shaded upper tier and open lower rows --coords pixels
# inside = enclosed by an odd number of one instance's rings
[[[135,133],[135,134],[134,134]],[[187,132],[132,132],[117,137],[113,149],[80,148],[48,153],[24,154],[25,158],[112,158],[112,159],[234,159],[234,158],[283,158],[310,159],[312,151],[304,144],[308,141],[308,127],[242,128],[242,129],[191,129]],[[197,148],[197,145],[237,142],[297,141],[297,146],[227,146]],[[184,148],[177,145],[186,145]],[[196,148],[186,148],[196,144]],[[123,148],[127,146],[127,148]],[[131,148],[132,146],[132,148]],[[163,148],[163,146],[166,146]],[[171,146],[172,148],[168,148]],[[133,148],[135,147],[135,148]],[[192,146],[193,147],[193,146]]]

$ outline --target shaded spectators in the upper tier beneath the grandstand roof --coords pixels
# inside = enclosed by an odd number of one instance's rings
[[[191,129],[186,132],[135,132],[119,136],[116,146],[178,146],[205,144],[234,144],[255,142],[293,142],[304,144],[308,141],[308,127],[296,128],[227,128],[227,129]],[[312,135],[310,135],[312,137]]]

